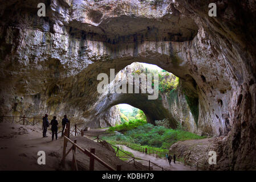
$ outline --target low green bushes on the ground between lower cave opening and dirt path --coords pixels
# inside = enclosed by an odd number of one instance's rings
[[[136,123],[136,122],[135,122]],[[116,134],[104,137],[105,140],[125,141],[140,144],[141,146],[155,147],[159,150],[168,149],[177,141],[189,139],[202,139],[196,134],[181,129],[167,129],[164,126],[153,126],[144,122],[131,123],[129,126],[116,127],[116,131],[126,131],[124,134]],[[114,128],[111,129],[113,131]]]

